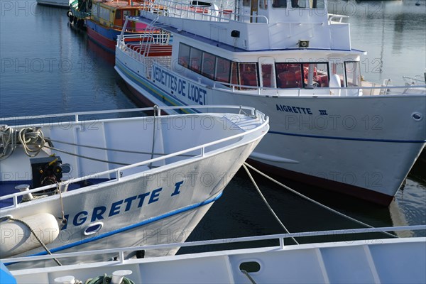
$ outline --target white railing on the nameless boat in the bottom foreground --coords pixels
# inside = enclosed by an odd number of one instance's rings
[[[337,235],[349,235],[349,234],[371,234],[371,233],[381,233],[386,231],[421,231],[426,230],[426,225],[416,225],[416,226],[387,226],[381,228],[361,228],[361,229],[336,229],[336,230],[327,230],[327,231],[306,231],[299,233],[290,233],[290,234],[273,234],[266,236],[246,236],[239,238],[231,239],[214,239],[206,241],[190,241],[185,243],[173,243],[173,244],[156,244],[151,246],[129,246],[125,248],[116,248],[116,249],[102,249],[96,251],[77,251],[72,253],[53,253],[52,255],[46,256],[26,256],[26,257],[17,257],[17,258],[3,258],[0,259],[3,263],[16,263],[21,261],[44,261],[52,258],[70,258],[76,256],[93,256],[104,253],[117,253],[119,258],[117,261],[109,261],[109,263],[126,263],[124,258],[125,252],[131,251],[148,251],[153,249],[174,249],[182,247],[194,247],[194,246],[207,246],[207,245],[217,245],[217,244],[233,244],[233,243],[247,243],[253,241],[267,241],[267,240],[278,240],[279,246],[277,248],[284,249],[284,239],[289,238],[300,238],[300,237],[312,237],[312,236],[337,236]],[[351,241],[356,241],[356,239],[351,239]],[[360,240],[366,242],[366,239]],[[292,245],[299,246],[299,245]],[[258,247],[258,246],[256,246]]]

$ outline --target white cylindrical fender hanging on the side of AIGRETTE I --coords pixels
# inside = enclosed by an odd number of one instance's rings
[[[16,218],[18,219],[18,218]],[[55,216],[48,213],[39,213],[21,218],[37,234],[44,244],[50,244],[58,238],[60,229]],[[31,234],[28,226],[16,221],[4,221],[0,224],[1,231],[1,258],[8,258],[16,254],[38,248],[40,243]]]

